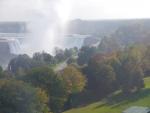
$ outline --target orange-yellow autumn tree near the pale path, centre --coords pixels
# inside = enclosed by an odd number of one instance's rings
[[[66,102],[65,107],[71,108],[74,94],[83,91],[86,85],[86,78],[77,68],[72,65],[66,67],[60,76],[65,83],[68,95],[68,101]]]

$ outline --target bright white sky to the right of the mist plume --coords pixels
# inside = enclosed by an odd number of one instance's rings
[[[70,18],[150,18],[150,0],[70,0]]]

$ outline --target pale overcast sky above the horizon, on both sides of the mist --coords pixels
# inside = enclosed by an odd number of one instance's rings
[[[62,21],[150,18],[150,0],[0,0],[0,20],[29,17],[33,12],[31,9],[44,12],[46,1],[52,4],[48,7],[58,4],[56,10]]]

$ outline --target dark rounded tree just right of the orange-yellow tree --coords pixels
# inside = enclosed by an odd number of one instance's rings
[[[88,88],[100,98],[115,90],[116,72],[111,65],[91,59],[86,73]]]

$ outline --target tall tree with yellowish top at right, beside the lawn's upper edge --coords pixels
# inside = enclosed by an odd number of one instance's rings
[[[138,91],[144,87],[144,73],[141,67],[143,55],[136,47],[127,48],[120,54],[120,71],[118,81],[126,94]]]

